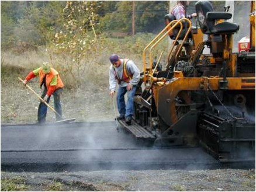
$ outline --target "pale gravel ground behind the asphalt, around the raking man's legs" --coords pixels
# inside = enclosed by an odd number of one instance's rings
[[[37,79],[28,85],[39,95],[41,90]],[[50,106],[54,106],[53,98]],[[64,118],[76,118],[76,121],[113,121],[112,99],[108,88],[88,83],[83,88],[71,91],[64,89],[61,97]],[[39,99],[21,82],[1,81],[1,124],[36,123]],[[47,122],[55,121],[55,114],[47,110]]]

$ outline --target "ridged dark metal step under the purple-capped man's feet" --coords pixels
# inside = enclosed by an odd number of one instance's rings
[[[145,128],[141,127],[136,121],[132,120],[131,125],[127,125],[124,120],[120,120],[119,123],[135,137],[139,139],[155,139],[156,137],[148,132]]]

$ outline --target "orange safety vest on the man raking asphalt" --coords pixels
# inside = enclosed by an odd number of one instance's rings
[[[46,75],[46,88],[47,88],[47,90],[49,89],[51,80],[54,78],[55,75],[57,75],[57,85],[55,86],[54,90],[56,90],[58,88],[63,88],[64,87],[64,84],[61,81],[60,75],[58,75],[58,72],[54,68],[50,69],[49,74],[44,74],[43,69],[39,69],[39,82],[40,82],[40,85],[42,85],[43,79],[44,79],[45,75]]]

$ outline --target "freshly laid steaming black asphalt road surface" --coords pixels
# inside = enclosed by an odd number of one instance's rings
[[[1,170],[205,169],[219,163],[201,148],[155,148],[115,122],[1,125]]]

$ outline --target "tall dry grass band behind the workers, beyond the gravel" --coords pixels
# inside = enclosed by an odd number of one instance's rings
[[[79,82],[75,81],[74,73],[67,68],[67,58],[61,56],[61,53],[54,53],[50,47],[39,47],[37,51],[27,51],[23,54],[14,54],[12,52],[4,52],[1,54],[1,78],[4,76],[25,75],[29,71],[41,66],[44,61],[49,61],[51,65],[60,73],[61,79],[65,83],[66,89],[75,89],[83,85],[102,85],[108,86],[109,73],[109,55],[116,53],[122,58],[130,58],[142,70],[142,53],[144,48],[153,40],[155,34],[139,33],[136,36],[127,36],[123,39],[101,38],[101,51],[88,55],[85,63],[85,72],[80,75]],[[160,55],[164,51],[167,57],[168,42],[167,39],[162,41],[153,51],[154,56]],[[78,74],[78,71],[77,71]],[[75,74],[76,75],[76,74]],[[79,83],[79,85],[77,85]]]

